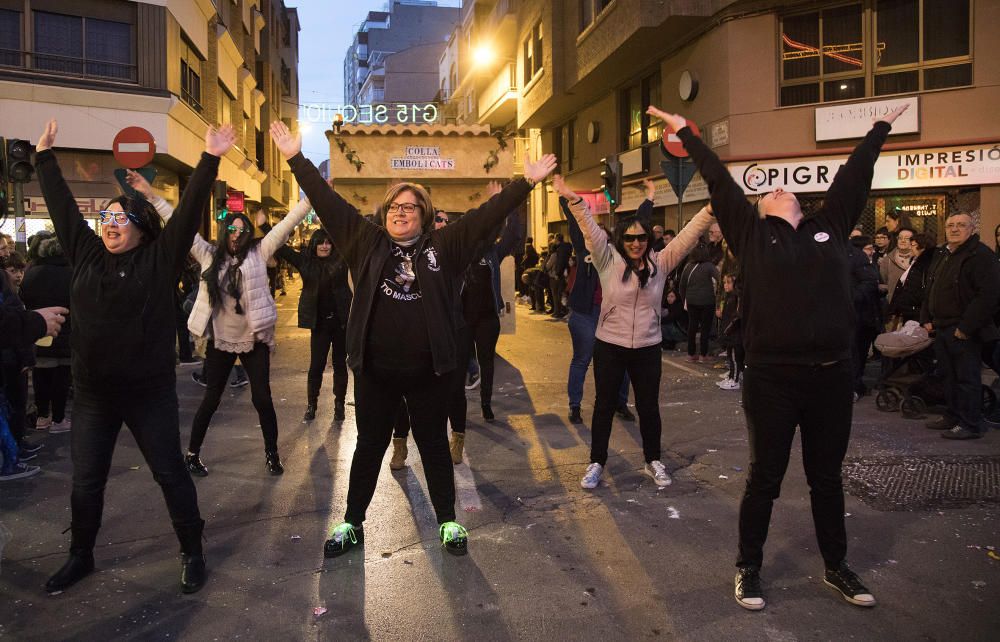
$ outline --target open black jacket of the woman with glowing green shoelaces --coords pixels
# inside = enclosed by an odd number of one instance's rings
[[[347,364],[360,372],[366,365],[364,352],[371,313],[392,241],[384,228],[366,220],[333,191],[302,154],[288,164],[350,268],[359,304],[352,307],[347,322]],[[458,297],[465,269],[479,243],[489,238],[530,191],[527,181],[516,180],[480,207],[469,210],[457,223],[425,232],[417,241],[414,270],[423,295],[421,305],[427,317],[435,374],[451,372],[458,365],[455,334],[464,323]]]

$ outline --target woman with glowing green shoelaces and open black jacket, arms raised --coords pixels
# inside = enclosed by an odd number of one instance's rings
[[[447,404],[442,403],[454,370],[466,366],[457,361],[455,339],[462,323],[459,286],[476,246],[490,239],[534,184],[549,175],[555,156],[525,162],[523,179],[440,230],[432,229],[435,210],[424,188],[414,183],[393,185],[381,205],[385,227],[379,227],[333,191],[302,156],[300,135],[276,121],[271,137],[334,247],[347,260],[355,286],[354,309],[347,322],[347,363],[354,371],[358,441],[344,521],[333,529],[324,552],[336,557],[364,541],[365,512],[375,493],[396,412],[405,400],[441,543],[449,553],[464,554],[468,533],[455,522]]]

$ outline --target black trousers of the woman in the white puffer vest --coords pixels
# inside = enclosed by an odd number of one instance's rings
[[[215,344],[209,342],[205,351],[205,396],[194,415],[191,424],[191,440],[188,450],[201,452],[201,445],[208,432],[208,424],[212,415],[219,407],[222,393],[226,388],[226,380],[236,358],[247,371],[250,379],[250,398],[257,409],[260,421],[260,431],[264,435],[264,451],[278,451],[278,417],[274,413],[274,402],[271,400],[271,350],[263,343],[254,344],[253,350],[237,354],[216,350]]]

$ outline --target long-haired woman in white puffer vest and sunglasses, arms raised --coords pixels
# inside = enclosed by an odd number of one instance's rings
[[[128,181],[149,199],[165,221],[170,220],[173,209],[153,192],[146,179],[130,172]],[[271,351],[278,308],[268,287],[267,261],[285,244],[309,209],[308,201],[300,201],[261,238],[255,238],[254,224],[242,212],[230,212],[219,224],[216,243],[209,243],[200,234],[194,236],[189,249],[201,265],[201,286],[188,316],[188,330],[209,342],[205,350],[205,396],[191,423],[184,456],[192,475],[208,475],[208,467],[201,461],[201,446],[237,358],[250,379],[250,399],[264,436],[264,468],[271,475],[285,472],[278,455],[278,417],[271,399]],[[263,212],[257,213],[256,223],[267,223]]]

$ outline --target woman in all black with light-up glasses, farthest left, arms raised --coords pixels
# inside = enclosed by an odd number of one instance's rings
[[[208,205],[219,157],[236,135],[209,128],[205,153],[168,225],[142,199],[121,196],[101,212],[95,235],[52,153],[52,120],[38,139],[35,168],[59,243],[73,265],[73,491],[70,555],[46,589],[62,591],[94,570],[104,487],[122,423],[159,483],[181,544],[181,590],[205,582],[194,483],[180,450],[174,363],[174,288]]]

